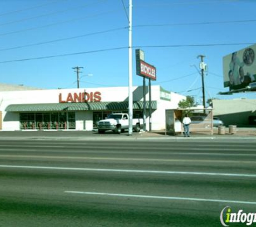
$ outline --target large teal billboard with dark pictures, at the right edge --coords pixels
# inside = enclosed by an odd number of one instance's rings
[[[256,44],[223,58],[224,87],[245,88],[256,81]]]

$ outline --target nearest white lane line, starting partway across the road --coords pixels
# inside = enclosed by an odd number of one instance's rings
[[[65,193],[72,194],[85,194],[85,195],[103,195],[103,196],[117,196],[117,197],[134,197],[134,198],[158,198],[164,200],[183,200],[183,201],[196,201],[196,202],[218,202],[218,203],[239,203],[255,205],[256,202],[250,201],[236,201],[236,200],[212,200],[210,198],[186,198],[186,197],[169,197],[169,196],[154,196],[154,195],[133,195],[133,194],[114,194],[114,193],[96,193],[91,191],[64,191]]]

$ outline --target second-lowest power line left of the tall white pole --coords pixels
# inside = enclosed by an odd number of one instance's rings
[[[31,47],[31,46],[38,46],[38,45],[44,45],[44,44],[51,44],[53,42],[60,42],[60,41],[65,41],[65,40],[77,39],[77,38],[82,38],[82,37],[86,37],[86,36],[94,36],[96,34],[103,34],[103,33],[107,33],[107,32],[114,32],[114,31],[119,31],[119,30],[124,30],[124,29],[128,29],[128,27],[119,27],[117,29],[109,29],[109,30],[105,30],[105,31],[99,31],[99,32],[92,32],[92,33],[82,34],[80,36],[67,37],[67,38],[50,40],[50,41],[45,41],[45,42],[36,42],[34,44],[27,44],[27,45],[23,45],[23,46],[3,48],[3,49],[0,49],[0,51],[9,51],[11,49],[19,49],[19,48],[24,48],[24,47]]]

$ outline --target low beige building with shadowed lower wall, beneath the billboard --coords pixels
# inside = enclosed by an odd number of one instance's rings
[[[213,115],[223,120],[224,125],[249,126],[256,124],[256,100],[212,100]]]

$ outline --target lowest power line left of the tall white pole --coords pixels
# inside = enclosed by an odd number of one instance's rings
[[[119,49],[128,49],[128,47],[115,47],[115,48],[107,48],[107,49],[98,49],[96,51],[84,51],[84,52],[77,52],[77,53],[70,53],[70,54],[41,56],[41,57],[37,57],[37,58],[26,58],[26,59],[17,59],[17,60],[10,60],[10,61],[0,61],[0,63],[10,63],[10,62],[19,62],[19,61],[30,61],[30,60],[57,58],[57,57],[61,57],[61,56],[71,56],[71,55],[89,54],[89,53],[96,53],[96,52],[116,51],[116,50],[119,50]]]

